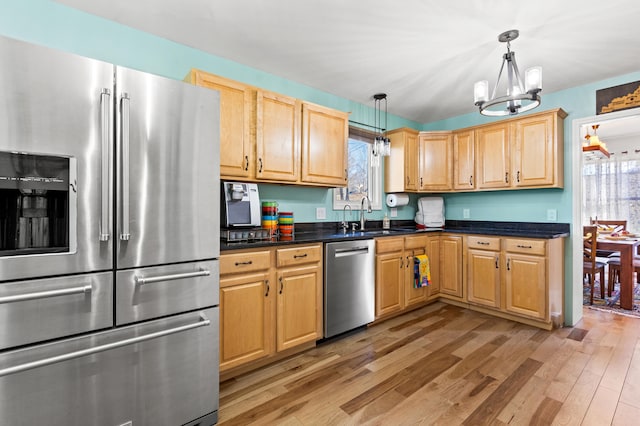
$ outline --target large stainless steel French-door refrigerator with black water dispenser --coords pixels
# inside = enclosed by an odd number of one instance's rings
[[[218,94],[0,58],[0,424],[216,423]]]

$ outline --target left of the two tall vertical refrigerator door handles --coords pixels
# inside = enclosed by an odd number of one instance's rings
[[[102,119],[100,121],[100,139],[102,145],[101,158],[101,193],[100,193],[100,241],[109,241],[111,237],[110,221],[109,221],[109,183],[111,164],[109,164],[109,149],[111,147],[111,91],[102,89],[100,94],[100,108]]]

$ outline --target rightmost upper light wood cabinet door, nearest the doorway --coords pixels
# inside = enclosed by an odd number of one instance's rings
[[[551,114],[522,118],[512,123],[513,186],[550,186],[555,181],[557,149]]]

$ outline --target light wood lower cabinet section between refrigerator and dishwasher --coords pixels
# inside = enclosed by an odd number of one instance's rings
[[[320,338],[322,244],[222,253],[221,372],[305,349]]]

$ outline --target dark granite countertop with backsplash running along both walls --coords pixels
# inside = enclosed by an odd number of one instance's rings
[[[342,232],[337,222],[300,223],[295,225],[294,236],[268,240],[220,241],[220,250],[272,247],[304,243],[330,243],[344,240],[364,240],[378,237],[419,235],[424,233],[481,234],[522,238],[564,238],[569,236],[568,223],[446,221],[443,228],[416,229],[415,223],[393,221],[391,229],[383,230],[382,221],[368,221],[364,231]]]

